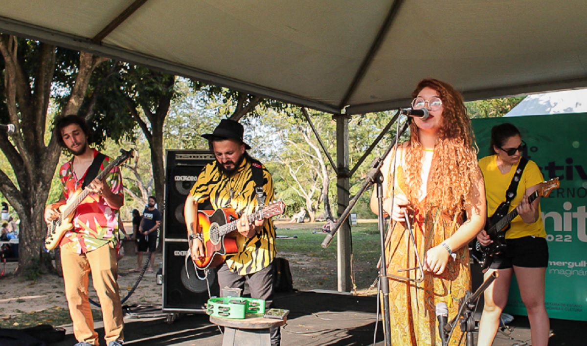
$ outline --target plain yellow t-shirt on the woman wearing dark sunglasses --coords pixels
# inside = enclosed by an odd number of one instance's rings
[[[497,155],[487,156],[479,160],[479,167],[481,168],[481,172],[483,172],[483,178],[485,180],[488,218],[495,213],[495,210],[502,202],[505,202],[505,191],[510,187],[514,173],[518,169],[518,164],[515,164],[506,174],[501,174],[500,169],[497,167]],[[544,177],[538,165],[534,161],[528,160],[508,213],[513,211],[519,202],[522,201],[522,196],[524,196],[526,189],[540,184],[543,181]],[[525,236],[546,238],[546,230],[544,229],[540,206],[538,206],[538,220],[536,222],[525,223],[518,215],[512,220],[510,225],[510,229],[505,232],[506,239],[522,238]]]

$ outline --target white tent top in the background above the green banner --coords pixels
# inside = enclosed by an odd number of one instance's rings
[[[587,113],[587,89],[528,95],[504,117],[562,113]]]

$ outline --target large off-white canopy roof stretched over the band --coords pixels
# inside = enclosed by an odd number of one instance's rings
[[[0,31],[331,113],[587,86],[587,1],[21,0]]]

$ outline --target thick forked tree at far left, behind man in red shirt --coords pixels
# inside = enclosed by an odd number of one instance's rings
[[[106,59],[4,34],[0,53],[0,119],[16,126],[12,137],[0,134],[0,150],[16,172],[12,181],[0,171],[0,192],[21,219],[19,271],[34,275],[48,267],[40,255],[46,230],[43,216],[61,152],[57,138],[46,131],[52,121],[50,100],[60,100],[55,111],[77,114],[92,72]]]

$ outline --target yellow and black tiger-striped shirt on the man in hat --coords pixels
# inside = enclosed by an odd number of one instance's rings
[[[266,202],[273,201],[273,179],[264,165],[249,158],[242,160],[237,171],[228,177],[222,174],[217,161],[205,165],[191,188],[194,201],[201,203],[208,199],[212,208],[233,208],[239,216],[251,214],[258,206],[255,194],[255,181],[252,177],[252,165],[258,165],[263,171],[263,191]],[[267,219],[264,228],[251,239],[237,233],[238,253],[226,257],[228,268],[239,275],[252,274],[269,266],[277,250],[275,248],[275,228],[273,221]]]

